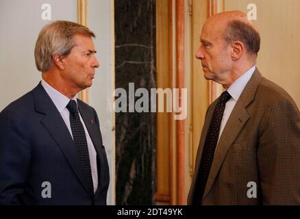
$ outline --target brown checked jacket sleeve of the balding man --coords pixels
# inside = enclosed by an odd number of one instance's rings
[[[290,97],[269,105],[261,122],[258,168],[264,205],[300,204],[300,114]]]

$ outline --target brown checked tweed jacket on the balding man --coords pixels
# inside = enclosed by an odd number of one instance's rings
[[[188,205],[217,101],[206,112]],[[257,68],[216,146],[201,204],[300,204],[300,113],[289,94],[262,77]]]

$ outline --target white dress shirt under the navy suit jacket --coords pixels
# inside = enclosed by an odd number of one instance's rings
[[[44,79],[42,79],[41,83],[43,88],[45,88],[47,94],[50,96],[51,100],[53,101],[55,107],[58,109],[58,112],[60,112],[60,115],[64,119],[64,123],[66,123],[66,127],[68,127],[68,131],[70,132],[73,138],[71,124],[70,124],[70,112],[68,112],[68,109],[66,108],[66,105],[68,105],[70,99],[68,99],[68,97],[64,96],[64,94],[60,93],[58,90],[55,90],[55,88],[52,88],[46,81],[44,81]],[[73,98],[73,100],[76,101],[77,103],[76,96]],[[86,141],[88,142],[88,154],[90,156],[90,169],[92,171],[92,184],[94,185],[94,193],[95,193],[98,188],[97,153],[94,144],[92,144],[92,140],[90,139],[90,135],[88,134],[88,130],[86,129],[86,125],[84,124],[84,120],[82,120],[82,116],[80,115],[80,112],[79,112],[79,117],[82,122],[82,125],[84,126],[84,132],[86,133]],[[74,150],[76,150],[75,147]]]

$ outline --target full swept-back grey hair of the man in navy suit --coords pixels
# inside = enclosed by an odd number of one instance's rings
[[[90,29],[71,21],[54,21],[43,27],[34,49],[36,68],[46,72],[51,67],[53,54],[68,55],[75,46],[75,34],[95,37]]]

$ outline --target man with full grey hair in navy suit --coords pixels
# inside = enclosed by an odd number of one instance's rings
[[[106,205],[99,120],[76,98],[99,67],[92,37],[68,21],[40,31],[34,55],[42,81],[0,113],[1,205]]]

